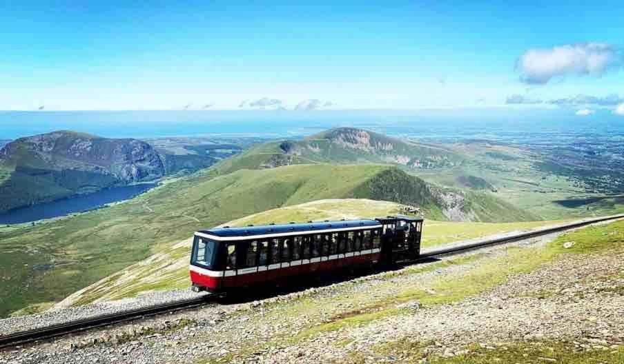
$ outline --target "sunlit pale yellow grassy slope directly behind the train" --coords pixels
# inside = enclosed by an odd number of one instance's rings
[[[227,225],[244,226],[266,223],[288,223],[290,221],[319,221],[334,219],[360,219],[373,216],[387,216],[400,211],[400,205],[389,201],[368,199],[329,199],[302,203],[251,214],[242,219],[230,221]],[[552,222],[524,223],[451,223],[447,221],[425,222],[422,245],[430,247],[441,243],[474,239],[497,232],[527,230]],[[72,294],[63,305],[84,304],[98,299],[122,299],[151,290],[185,288],[191,285],[188,279],[188,260],[191,240],[186,239],[159,252],[142,262],[117,272],[86,290]]]

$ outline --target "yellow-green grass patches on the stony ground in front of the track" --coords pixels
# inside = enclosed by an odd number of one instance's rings
[[[574,241],[575,245],[565,249],[564,243]],[[266,341],[242,345],[240,351],[228,352],[226,356],[209,357],[201,363],[226,363],[232,360],[250,358],[253,352],[268,350],[270,347],[292,347],[306,345],[308,341],[331,336],[329,345],[344,347],[351,342],[349,331],[356,327],[367,330],[371,323],[401,315],[414,314],[400,308],[402,303],[418,302],[423,307],[434,307],[447,303],[458,303],[470,296],[482,294],[505,284],[514,274],[523,274],[538,270],[542,265],[556,261],[563,256],[576,255],[577,259],[596,254],[621,254],[624,249],[624,221],[609,225],[589,227],[577,232],[563,234],[543,247],[514,247],[503,256],[475,254],[472,256],[446,259],[431,265],[409,267],[398,272],[391,272],[376,279],[375,293],[371,290],[341,291],[335,289],[332,294],[319,294],[302,297],[291,301],[280,301],[275,310],[266,310],[262,322],[271,320],[296,319],[305,316],[308,327],[298,330],[297,334],[277,334]],[[462,270],[444,274],[422,285],[400,286],[396,290],[396,277],[401,275],[422,274],[438,268],[462,265]],[[588,279],[614,279],[615,277],[592,276]],[[426,280],[425,280],[426,281]],[[418,282],[418,280],[416,281]],[[355,285],[361,283],[354,283]],[[389,288],[391,287],[391,288]],[[384,292],[384,294],[379,294]],[[560,293],[558,290],[553,294]],[[344,307],[331,309],[328,307]],[[354,308],[355,307],[355,308]],[[340,312],[342,310],[342,312]],[[331,312],[328,316],[327,312]],[[416,313],[418,314],[418,313]],[[398,320],[400,321],[400,320]],[[333,333],[333,334],[332,334]],[[344,333],[347,333],[346,335]],[[352,336],[351,336],[352,337]],[[344,340],[340,340],[344,338]],[[594,352],[578,351],[568,341],[520,341],[505,343],[495,350],[485,350],[478,343],[469,345],[467,353],[453,358],[443,358],[429,354],[423,348],[432,343],[422,343],[417,336],[397,338],[396,341],[373,345],[371,350],[384,356],[392,355],[401,363],[545,363],[543,358],[556,358],[559,363],[621,363],[624,350],[604,350]],[[493,343],[486,343],[486,345]],[[577,349],[577,350],[575,350]],[[361,352],[351,352],[345,363],[368,363]]]

